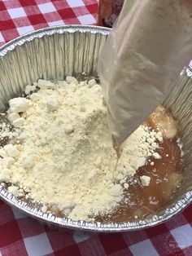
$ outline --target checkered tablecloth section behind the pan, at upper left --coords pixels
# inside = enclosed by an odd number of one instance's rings
[[[95,24],[98,0],[0,0],[0,46],[24,33],[62,24]]]

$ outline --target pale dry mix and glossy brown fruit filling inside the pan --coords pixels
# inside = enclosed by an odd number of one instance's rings
[[[159,106],[117,157],[94,79],[38,80],[1,114],[0,182],[44,213],[121,223],[167,205],[182,180],[177,121]]]

